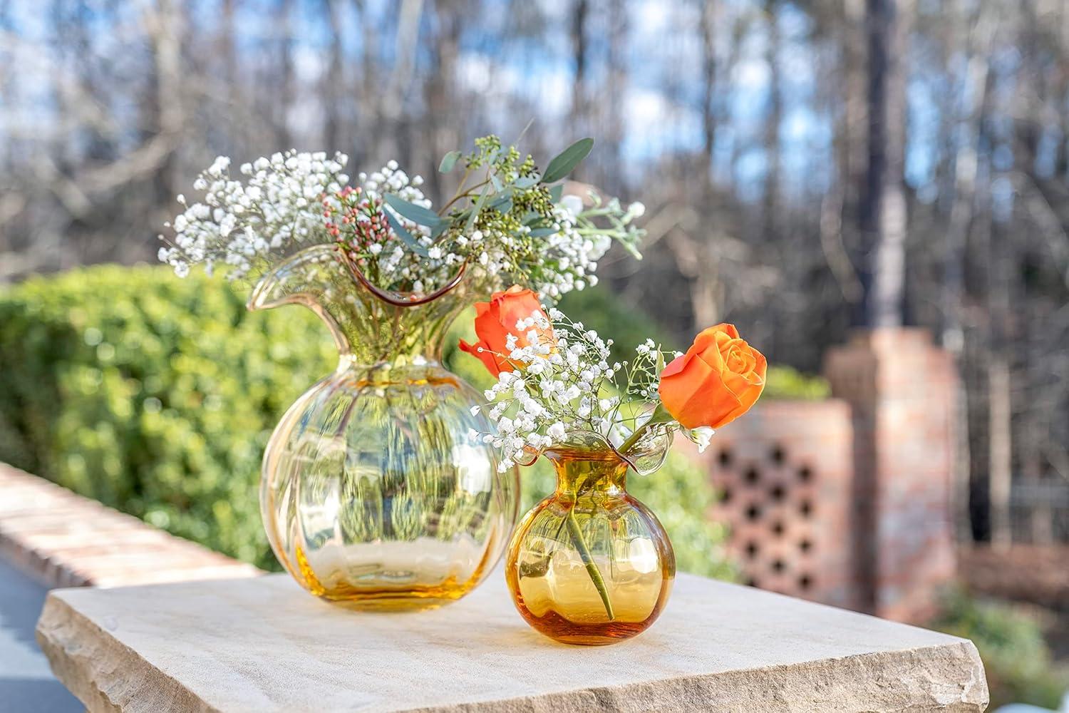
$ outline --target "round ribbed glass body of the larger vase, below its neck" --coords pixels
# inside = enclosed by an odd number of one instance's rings
[[[479,394],[437,366],[342,367],[275,430],[261,508],[275,554],[310,592],[363,608],[459,599],[497,562],[515,474],[497,471]]]

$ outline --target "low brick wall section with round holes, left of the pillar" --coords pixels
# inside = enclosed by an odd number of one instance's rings
[[[703,458],[730,527],[728,548],[752,585],[858,608],[850,543],[850,408],[768,402],[719,430]]]

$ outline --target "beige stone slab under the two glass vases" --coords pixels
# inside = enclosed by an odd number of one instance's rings
[[[982,711],[965,639],[681,575],[661,619],[556,644],[500,571],[450,606],[368,614],[288,575],[53,591],[37,624],[90,711]]]

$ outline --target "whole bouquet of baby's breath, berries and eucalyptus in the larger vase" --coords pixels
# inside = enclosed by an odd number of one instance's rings
[[[472,292],[518,283],[556,300],[597,284],[598,261],[614,242],[639,257],[641,203],[624,210],[594,192],[563,196],[560,182],[592,145],[576,141],[540,170],[496,136],[477,139],[466,156],[443,158],[439,171],[460,165],[464,173],[437,211],[422,179],[393,160],[347,186],[343,154],[274,154],[243,165],[247,179],[231,177],[220,156],[193,183],[202,202],[179,197],[183,212],[159,259],[183,277],[193,264],[211,272],[223,263],[230,279],[255,278],[303,248],[335,244],[383,290],[430,294],[466,266]]]

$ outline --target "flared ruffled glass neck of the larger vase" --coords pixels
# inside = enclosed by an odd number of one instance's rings
[[[340,369],[438,362],[449,325],[466,306],[464,284],[430,300],[387,300],[354,278],[328,245],[303,250],[265,275],[249,309],[304,305],[327,325]]]

